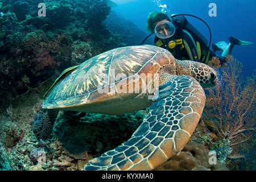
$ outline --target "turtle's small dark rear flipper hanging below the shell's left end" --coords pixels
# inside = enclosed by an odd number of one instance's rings
[[[52,109],[41,109],[35,117],[33,133],[37,139],[47,139],[52,133],[52,128],[59,111]]]

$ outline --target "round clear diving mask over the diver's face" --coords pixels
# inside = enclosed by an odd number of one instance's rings
[[[168,39],[175,33],[175,26],[171,22],[163,20],[156,24],[155,35],[160,39]]]

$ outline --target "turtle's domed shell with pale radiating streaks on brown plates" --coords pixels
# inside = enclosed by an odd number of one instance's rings
[[[147,83],[147,93],[141,93],[145,82],[141,75],[148,77],[148,73],[158,73],[161,67],[170,64],[174,64],[171,53],[156,46],[112,49],[80,64],[52,89],[42,107],[102,113],[102,110],[110,110],[107,109],[110,106],[117,106],[119,113],[126,113],[118,105],[144,97],[152,90],[152,82]],[[128,89],[129,86],[135,88],[136,84],[140,85],[137,87],[139,90],[121,92],[121,89]],[[147,102],[137,104],[139,108],[134,107],[133,110],[149,106],[150,101]],[[109,111],[105,113],[111,114]]]

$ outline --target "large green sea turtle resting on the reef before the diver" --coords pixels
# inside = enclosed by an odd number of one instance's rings
[[[89,160],[84,169],[154,169],[188,142],[204,109],[202,86],[216,82],[208,65],[177,60],[163,48],[112,49],[61,73],[47,92],[33,131],[38,139],[47,138],[59,110],[124,114],[149,107],[127,142]]]

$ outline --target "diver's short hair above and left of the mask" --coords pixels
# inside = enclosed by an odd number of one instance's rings
[[[167,19],[168,21],[171,21],[169,16],[167,14],[161,13],[161,12],[151,12],[147,16],[147,30],[151,33],[154,33],[155,31],[155,23],[160,22],[163,19]]]

